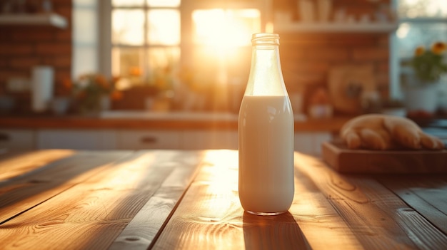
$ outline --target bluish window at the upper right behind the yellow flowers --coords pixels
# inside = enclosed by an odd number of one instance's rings
[[[417,46],[431,46],[435,41],[447,41],[446,0],[394,0],[399,26],[391,49],[391,95],[401,95],[400,84],[408,73],[402,63],[414,54]]]

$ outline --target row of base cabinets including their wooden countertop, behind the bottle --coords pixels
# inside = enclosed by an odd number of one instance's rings
[[[74,150],[238,148],[237,115],[180,115],[174,118],[2,118],[0,148]],[[349,118],[295,123],[295,150],[318,155],[321,142]]]

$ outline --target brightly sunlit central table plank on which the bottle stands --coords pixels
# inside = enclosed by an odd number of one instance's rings
[[[206,152],[196,179],[153,249],[361,248],[343,218],[302,175],[296,175],[288,213],[261,217],[243,212],[237,150]]]

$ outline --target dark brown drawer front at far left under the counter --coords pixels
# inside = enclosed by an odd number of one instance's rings
[[[0,130],[0,150],[33,150],[35,148],[34,130]]]

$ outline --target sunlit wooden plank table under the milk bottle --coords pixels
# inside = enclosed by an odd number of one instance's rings
[[[447,249],[447,175],[341,175],[296,152],[288,213],[238,201],[237,151],[0,156],[0,249]]]

